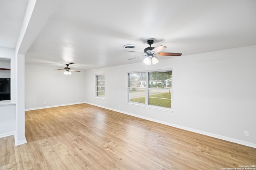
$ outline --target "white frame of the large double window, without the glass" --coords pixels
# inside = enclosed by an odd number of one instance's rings
[[[169,72],[171,71],[172,72],[172,75],[173,75],[173,70],[172,68],[169,68],[169,69],[161,69],[161,70],[142,70],[142,71],[134,71],[134,72],[127,72],[127,80],[128,80],[128,101],[127,101],[127,104],[131,104],[131,105],[134,105],[134,106],[138,106],[138,107],[146,107],[146,108],[150,108],[150,109],[157,109],[157,110],[162,110],[162,111],[169,111],[169,112],[172,112],[172,108],[173,108],[173,105],[172,105],[172,100],[173,100],[173,94],[172,94],[172,88],[170,89],[170,92],[171,92],[171,107],[168,108],[168,107],[162,107],[162,106],[155,106],[155,105],[150,105],[148,104],[148,100],[149,100],[149,90],[150,90],[150,72]],[[138,102],[130,102],[130,87],[129,87],[129,83],[130,83],[130,73],[140,73],[140,72],[146,72],[146,86],[145,86],[145,90],[146,90],[146,94],[145,94],[145,104],[142,104],[142,103],[138,103]],[[172,76],[173,78],[173,76]],[[171,82],[171,84],[173,84]]]

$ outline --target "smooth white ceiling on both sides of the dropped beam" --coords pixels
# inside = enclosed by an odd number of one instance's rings
[[[0,1],[0,46],[15,48],[26,4]],[[144,58],[128,61],[140,54],[122,52],[123,45],[143,52],[148,39],[182,56],[256,45],[256,1],[60,0],[25,62],[56,68],[75,62],[78,70],[138,63]]]

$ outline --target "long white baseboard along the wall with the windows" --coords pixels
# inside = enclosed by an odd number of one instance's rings
[[[224,141],[229,141],[229,142],[237,143],[237,144],[240,144],[240,145],[245,145],[245,146],[248,146],[248,147],[256,148],[256,144],[255,143],[241,141],[241,140],[238,140],[238,139],[234,139],[234,138],[230,138],[230,137],[225,137],[225,136],[217,135],[217,134],[214,134],[214,133],[209,133],[209,132],[200,131],[200,130],[197,130],[197,129],[192,129],[192,128],[189,128],[189,127],[175,125],[175,124],[172,124],[172,123],[168,123],[168,122],[164,122],[164,121],[159,121],[159,120],[156,120],[156,119],[151,119],[149,117],[144,117],[144,116],[128,113],[128,112],[125,112],[125,111],[116,110],[116,109],[112,109],[112,108],[109,108],[109,107],[104,107],[104,106],[92,104],[92,103],[89,103],[89,102],[84,102],[84,103],[90,104],[90,105],[93,105],[93,106],[97,106],[97,107],[102,107],[104,109],[109,109],[109,110],[112,110],[112,111],[117,111],[117,112],[120,112],[120,113],[124,113],[126,115],[131,115],[131,116],[134,116],[134,117],[138,117],[138,118],[141,118],[141,119],[146,119],[146,120],[149,120],[149,121],[154,121],[156,123],[161,123],[161,124],[164,124],[164,125],[176,127],[176,128],[183,129],[183,130],[186,130],[186,131],[191,131],[191,132],[199,133],[199,134],[202,134],[202,135],[214,137],[214,138],[217,138],[217,139],[222,139]]]

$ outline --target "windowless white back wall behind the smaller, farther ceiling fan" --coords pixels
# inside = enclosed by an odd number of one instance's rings
[[[85,84],[92,82],[85,81],[85,71],[67,76],[64,71],[53,69],[56,68],[25,64],[26,110],[85,101]]]

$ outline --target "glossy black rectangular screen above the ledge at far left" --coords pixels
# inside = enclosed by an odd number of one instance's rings
[[[0,100],[11,100],[10,78],[0,78]]]

